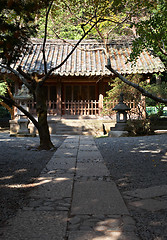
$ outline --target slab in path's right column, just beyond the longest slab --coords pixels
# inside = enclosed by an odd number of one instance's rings
[[[77,163],[76,176],[109,176],[107,167],[99,162]]]

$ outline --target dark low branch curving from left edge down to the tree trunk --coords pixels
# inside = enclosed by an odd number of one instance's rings
[[[39,123],[36,121],[36,119],[29,113],[27,112],[23,107],[21,107],[19,104],[17,104],[13,99],[4,97],[0,95],[0,98],[7,104],[7,105],[13,105],[17,107],[21,112],[23,112],[35,125],[35,127],[39,130]]]

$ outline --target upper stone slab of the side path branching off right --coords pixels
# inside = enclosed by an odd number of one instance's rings
[[[135,191],[127,191],[127,192],[124,192],[123,194],[142,198],[142,199],[154,198],[158,196],[167,195],[167,185],[149,187],[144,189],[136,189]]]

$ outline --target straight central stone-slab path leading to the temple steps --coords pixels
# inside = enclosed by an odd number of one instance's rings
[[[1,239],[139,239],[93,137],[67,137],[33,186]]]

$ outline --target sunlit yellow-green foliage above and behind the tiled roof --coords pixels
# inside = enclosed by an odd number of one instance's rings
[[[118,35],[129,35],[129,23],[122,22],[126,18],[127,11],[133,8],[132,5],[129,1],[54,1],[48,21],[48,36],[49,38],[80,39],[83,30],[86,31],[95,20],[99,22],[86,38],[104,40],[108,37],[111,39]],[[45,13],[42,10],[38,17],[40,26],[38,37],[44,36]],[[110,32],[112,34],[109,34]]]

